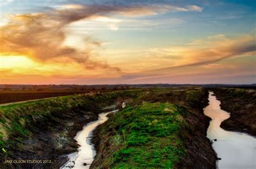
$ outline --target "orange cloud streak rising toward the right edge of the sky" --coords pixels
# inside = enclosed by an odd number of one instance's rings
[[[248,34],[236,38],[217,35],[196,40],[185,46],[154,48],[146,54],[151,57],[158,55],[158,60],[163,59],[165,62],[170,60],[170,66],[161,67],[159,70],[205,65],[240,55],[255,55],[256,38]]]

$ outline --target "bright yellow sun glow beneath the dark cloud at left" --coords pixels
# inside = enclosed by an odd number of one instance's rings
[[[8,71],[11,75],[37,74],[44,76],[64,75],[96,75],[100,70],[87,70],[82,65],[64,58],[38,62],[23,55],[1,55],[0,71]]]

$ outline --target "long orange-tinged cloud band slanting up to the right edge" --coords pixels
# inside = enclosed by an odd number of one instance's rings
[[[216,34],[197,39],[187,45],[145,48],[144,50],[133,50],[133,53],[124,50],[111,51],[111,54],[119,56],[120,59],[116,65],[124,65],[123,69],[127,72],[125,77],[138,76],[141,78],[170,74],[177,70],[184,73],[188,68],[218,67],[217,64],[220,61],[255,56],[256,38],[251,34],[229,38],[222,34]],[[130,60],[122,59],[127,58],[127,55]]]

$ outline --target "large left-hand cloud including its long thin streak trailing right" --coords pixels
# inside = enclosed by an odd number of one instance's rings
[[[66,38],[65,27],[82,19],[102,19],[117,14],[124,16],[156,15],[166,11],[193,11],[190,8],[180,8],[172,5],[134,5],[134,6],[104,6],[66,4],[57,6],[47,13],[30,13],[9,16],[10,22],[1,27],[0,52],[5,55],[27,55],[37,61],[53,58],[70,58],[87,69],[104,68],[119,71],[105,61],[95,61],[92,56],[93,48],[99,47],[100,42],[91,37],[84,39],[83,50],[64,46]],[[105,18],[103,16],[106,16]],[[111,20],[113,22],[113,20]],[[117,30],[115,24],[110,29]]]

